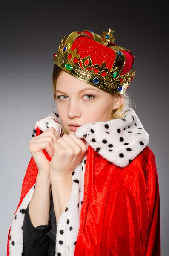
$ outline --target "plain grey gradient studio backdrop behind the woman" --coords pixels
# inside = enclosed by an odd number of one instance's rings
[[[117,1],[116,1],[117,2]],[[136,113],[149,133],[160,185],[161,251],[168,256],[168,19],[162,1],[55,1],[0,6],[0,256],[20,199],[35,122],[52,113],[53,54],[75,30],[115,30],[115,44],[135,55],[129,87]]]

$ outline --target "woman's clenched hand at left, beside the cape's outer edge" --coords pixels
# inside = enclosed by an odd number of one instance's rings
[[[53,151],[52,145],[57,142],[59,135],[54,127],[47,128],[43,133],[33,137],[29,142],[29,151],[34,158],[34,161],[38,168],[39,174],[49,175],[50,162],[46,158],[43,150],[45,149],[49,156],[52,158]]]

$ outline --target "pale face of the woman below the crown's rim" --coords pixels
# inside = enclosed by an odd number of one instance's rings
[[[62,71],[56,83],[56,107],[63,127],[69,134],[78,128],[71,130],[70,123],[85,125],[108,121],[113,101],[110,93]]]

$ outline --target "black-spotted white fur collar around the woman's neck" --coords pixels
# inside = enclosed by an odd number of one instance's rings
[[[38,120],[34,131],[37,126],[42,131],[54,126],[59,134],[63,127],[58,113],[49,114]],[[34,133],[33,136],[35,136]],[[75,132],[75,136],[79,139],[85,138],[86,142],[103,158],[120,167],[129,165],[149,143],[149,134],[132,108],[127,110],[122,119],[82,125]]]

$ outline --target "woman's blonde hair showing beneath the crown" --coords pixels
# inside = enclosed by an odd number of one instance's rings
[[[61,71],[62,69],[58,67],[56,64],[54,64],[53,73],[52,73],[52,88],[53,88],[54,104],[56,102],[56,82]],[[120,98],[120,96],[115,93],[110,93],[110,94],[112,95],[113,106],[114,106],[115,102],[117,101],[117,98]],[[109,120],[123,118],[123,116],[126,114],[127,109],[132,108],[132,104],[134,103],[132,102],[129,94],[125,92],[125,94],[122,94],[121,96],[123,96],[124,103],[119,108],[112,110]],[[54,108],[54,104],[53,104],[53,108]],[[63,127],[63,133],[61,134],[60,137],[62,137],[63,134],[68,134],[64,127]]]

